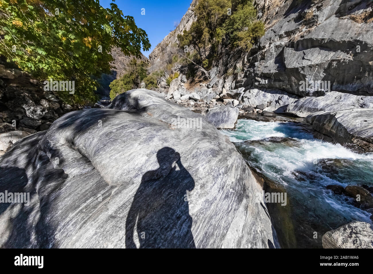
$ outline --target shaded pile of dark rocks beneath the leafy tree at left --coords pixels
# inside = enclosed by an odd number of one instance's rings
[[[0,155],[19,139],[47,130],[73,110],[43,87],[29,73],[0,64]]]

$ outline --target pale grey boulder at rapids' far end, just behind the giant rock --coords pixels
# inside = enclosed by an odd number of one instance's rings
[[[234,129],[238,119],[238,112],[238,107],[233,105],[211,108],[206,114],[206,119],[217,129]]]

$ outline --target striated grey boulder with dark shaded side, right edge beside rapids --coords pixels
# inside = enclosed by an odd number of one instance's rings
[[[307,116],[305,121],[341,144],[356,144],[373,152],[373,108],[320,111]]]

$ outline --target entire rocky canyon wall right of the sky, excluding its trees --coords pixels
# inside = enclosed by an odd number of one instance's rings
[[[150,54],[151,63],[172,56],[172,44],[190,26],[195,4]],[[231,103],[225,101],[227,95],[236,94],[229,98],[237,99],[241,109],[264,104],[263,110],[300,117],[321,110],[373,107],[372,1],[255,0],[254,6],[266,25],[254,47],[246,53],[220,49],[209,72],[210,83],[197,89],[188,85],[188,90],[179,81],[167,92],[169,99],[173,91],[182,90],[182,95],[196,92],[207,104],[214,98],[213,104],[225,105]],[[178,96],[173,98],[177,101]]]

